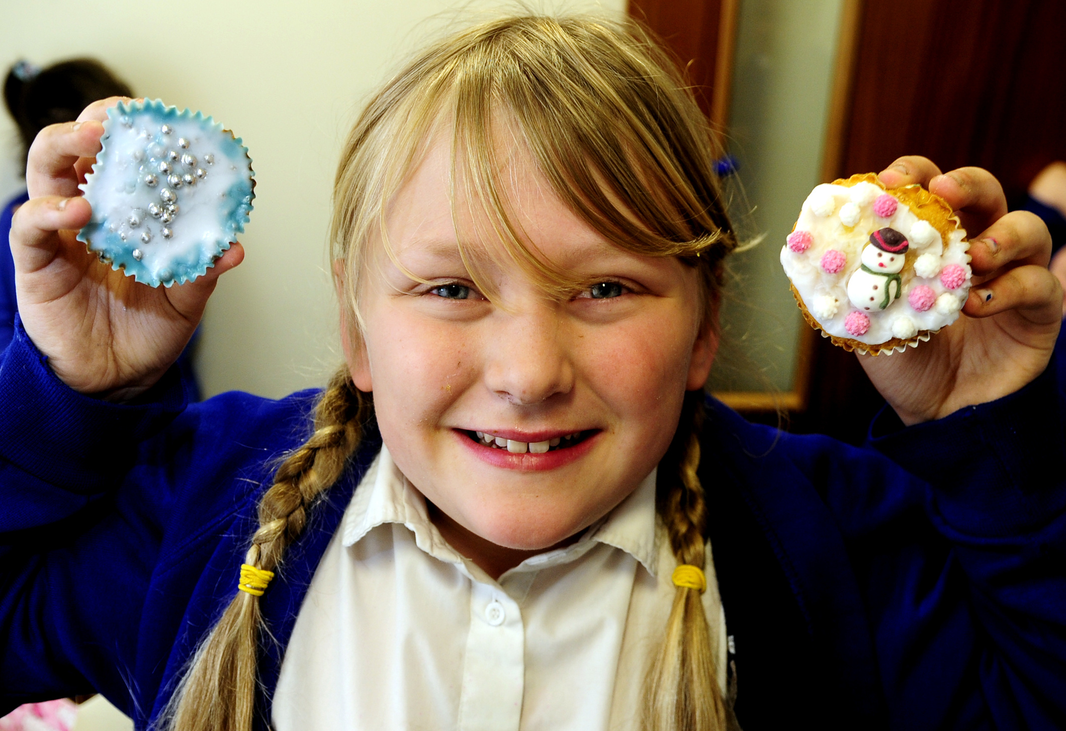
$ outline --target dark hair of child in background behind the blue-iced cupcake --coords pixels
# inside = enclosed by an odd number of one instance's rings
[[[95,59],[71,59],[28,75],[28,64],[11,67],[3,82],[3,99],[18,125],[22,164],[37,132],[48,125],[74,121],[97,99],[133,96],[132,90]]]

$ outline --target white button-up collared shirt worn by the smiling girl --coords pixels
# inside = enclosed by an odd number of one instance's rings
[[[296,617],[277,731],[637,729],[674,599],[656,473],[575,543],[490,579],[383,448]],[[704,606],[725,687],[710,551]]]

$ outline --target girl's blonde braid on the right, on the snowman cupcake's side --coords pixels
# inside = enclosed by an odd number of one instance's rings
[[[660,462],[659,515],[678,564],[704,568],[707,503],[696,470],[704,394],[685,394],[677,434]],[[649,731],[720,731],[726,728],[711,632],[698,589],[678,586],[666,636],[645,685]]]

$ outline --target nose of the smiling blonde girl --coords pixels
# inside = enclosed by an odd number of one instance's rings
[[[516,406],[531,406],[574,388],[564,319],[545,303],[534,311],[497,312],[485,343],[485,385]]]

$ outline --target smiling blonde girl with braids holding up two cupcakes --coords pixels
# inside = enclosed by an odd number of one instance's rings
[[[863,361],[892,407],[866,449],[779,434],[701,391],[736,240],[680,74],[628,26],[478,26],[345,144],[344,368],[190,405],[169,366],[243,253],[172,289],[86,254],[104,108],[38,136],[12,233],[0,713],[96,689],[181,731],[1063,719],[1066,489],[1036,480],[1062,294],[987,173],[882,174],[962,211],[979,294]]]

